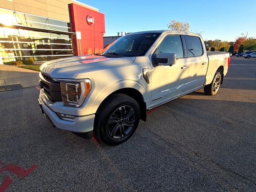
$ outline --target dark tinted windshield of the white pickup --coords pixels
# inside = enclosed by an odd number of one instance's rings
[[[103,55],[144,56],[161,33],[128,34],[108,47]]]

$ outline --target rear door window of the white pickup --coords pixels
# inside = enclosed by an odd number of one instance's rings
[[[187,57],[200,56],[203,54],[202,43],[199,37],[184,35]]]

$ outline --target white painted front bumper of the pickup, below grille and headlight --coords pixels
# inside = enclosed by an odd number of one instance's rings
[[[57,114],[52,109],[50,109],[46,104],[44,104],[41,96],[39,97],[38,102],[42,110],[42,113],[44,113],[46,118],[57,128],[79,133],[93,131],[95,114],[77,116],[74,122],[62,120],[57,116]]]

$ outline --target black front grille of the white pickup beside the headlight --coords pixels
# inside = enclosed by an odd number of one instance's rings
[[[41,72],[39,83],[50,102],[62,101],[60,82],[54,81],[50,76]]]

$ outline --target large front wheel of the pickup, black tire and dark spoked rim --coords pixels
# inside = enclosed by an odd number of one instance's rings
[[[110,146],[128,140],[140,122],[140,106],[130,96],[114,94],[96,112],[94,133]]]

